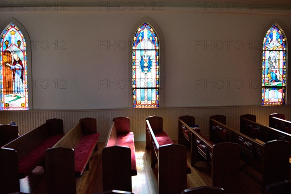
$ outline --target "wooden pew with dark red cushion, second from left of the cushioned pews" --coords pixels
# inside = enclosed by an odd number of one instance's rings
[[[99,136],[96,119],[82,118],[46,150],[47,194],[76,194],[76,178],[89,169]]]

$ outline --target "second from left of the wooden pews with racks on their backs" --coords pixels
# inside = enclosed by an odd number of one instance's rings
[[[268,184],[289,178],[289,148],[287,141],[256,141],[219,121],[222,115],[210,116],[210,137],[213,142],[233,142],[240,145],[241,159],[261,175],[261,189]],[[216,120],[217,119],[217,120]]]

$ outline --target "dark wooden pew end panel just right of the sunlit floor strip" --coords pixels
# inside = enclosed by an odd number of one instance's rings
[[[171,144],[158,149],[158,176],[160,194],[178,194],[187,184],[186,146]]]

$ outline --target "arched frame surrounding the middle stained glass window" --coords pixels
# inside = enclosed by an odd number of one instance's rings
[[[156,36],[158,37],[158,40],[159,40],[159,80],[158,80],[158,84],[159,84],[159,105],[158,106],[155,106],[155,105],[141,105],[141,106],[134,106],[134,88],[135,88],[135,85],[134,85],[134,76],[133,76],[133,58],[132,58],[132,55],[133,55],[133,43],[134,43],[134,40],[133,40],[133,37],[136,35],[136,32],[140,29],[140,27],[143,26],[143,24],[148,24],[150,26],[150,28],[153,29],[153,32],[155,32]],[[129,106],[133,107],[133,108],[156,108],[156,107],[162,107],[163,106],[163,101],[164,101],[164,79],[163,79],[163,72],[164,72],[164,67],[163,67],[163,51],[164,51],[164,42],[163,42],[163,38],[162,38],[162,32],[161,30],[159,29],[159,27],[155,24],[155,22],[153,20],[151,20],[150,18],[148,17],[145,17],[143,19],[141,19],[134,27],[133,29],[131,30],[131,33],[130,33],[130,36],[129,36],[129,40],[131,40],[131,47],[129,48],[129,54],[130,54],[130,57],[129,57],[129,75],[130,75],[130,78],[129,80],[131,80],[131,86],[130,87],[130,91],[129,91]]]

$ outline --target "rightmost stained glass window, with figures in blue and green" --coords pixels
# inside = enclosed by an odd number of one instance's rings
[[[282,30],[273,25],[263,41],[262,105],[285,104],[286,48]]]

